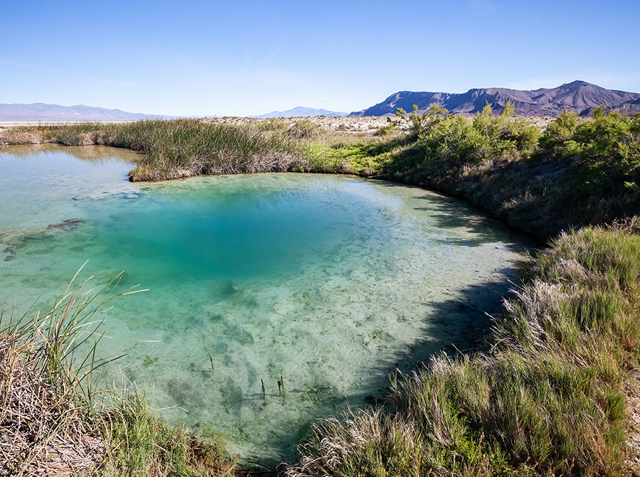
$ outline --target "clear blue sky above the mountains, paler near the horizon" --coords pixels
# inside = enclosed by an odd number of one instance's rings
[[[0,103],[351,112],[400,90],[640,92],[640,0],[3,0]]]

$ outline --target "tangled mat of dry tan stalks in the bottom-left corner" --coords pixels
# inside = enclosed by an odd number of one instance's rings
[[[70,476],[102,461],[102,439],[87,427],[77,388],[55,382],[46,341],[0,336],[0,476]]]

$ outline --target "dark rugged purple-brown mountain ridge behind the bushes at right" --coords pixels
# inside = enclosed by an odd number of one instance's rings
[[[621,112],[640,112],[640,93],[607,90],[585,81],[574,81],[555,88],[539,90],[508,90],[507,88],[476,88],[465,93],[400,91],[375,106],[352,112],[350,116],[388,116],[401,107],[410,112],[416,104],[419,112],[439,104],[452,113],[474,114],[487,103],[495,112],[506,102],[516,107],[516,114],[527,116],[556,116],[563,110],[587,115],[594,107],[606,104]]]

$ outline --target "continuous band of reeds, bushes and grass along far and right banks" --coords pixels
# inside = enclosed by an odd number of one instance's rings
[[[626,473],[640,346],[640,115],[565,112],[540,132],[512,112],[400,111],[367,138],[309,121],[178,120],[16,128],[3,140],[143,151],[132,180],[262,171],[392,178],[552,238],[528,260],[484,351],[433,358],[392,378],[385,407],[319,422],[286,473]]]

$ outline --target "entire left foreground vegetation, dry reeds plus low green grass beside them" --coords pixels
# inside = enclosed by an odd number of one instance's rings
[[[232,457],[154,417],[141,396],[97,389],[95,371],[114,359],[97,358],[99,316],[139,290],[72,284],[46,314],[0,315],[0,475],[230,473]]]

